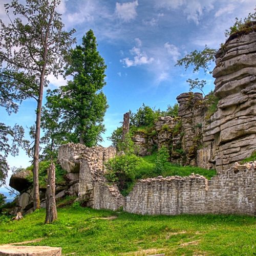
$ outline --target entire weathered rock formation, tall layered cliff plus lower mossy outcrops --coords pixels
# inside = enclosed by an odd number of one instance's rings
[[[229,39],[216,55],[215,114],[206,121],[207,98],[182,93],[177,97],[180,121],[160,117],[155,134],[134,136],[139,155],[166,145],[172,162],[222,170],[256,151],[255,49],[256,32]]]

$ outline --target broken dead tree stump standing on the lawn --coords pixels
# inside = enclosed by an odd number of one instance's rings
[[[52,223],[57,219],[55,202],[55,164],[51,162],[48,168],[48,179],[46,188],[46,220],[45,223]]]

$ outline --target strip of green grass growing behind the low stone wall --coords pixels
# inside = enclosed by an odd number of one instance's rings
[[[211,177],[216,175],[216,170],[211,169],[203,169],[196,166],[182,166],[179,164],[167,163],[164,166],[164,170],[162,173],[156,174],[154,172],[155,162],[157,155],[153,154],[151,156],[145,156],[142,158],[137,170],[136,170],[136,179],[144,179],[144,178],[153,178],[158,175],[162,175],[163,177],[167,176],[189,176],[191,173],[203,175],[205,178],[210,179]]]

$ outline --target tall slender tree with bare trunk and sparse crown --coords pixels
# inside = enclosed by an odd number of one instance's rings
[[[6,4],[10,24],[0,20],[0,60],[3,63],[0,81],[12,96],[18,90],[20,97],[34,98],[37,101],[35,144],[33,154],[33,203],[40,207],[38,186],[38,157],[41,106],[44,87],[48,86],[49,74],[58,75],[65,63],[65,56],[73,44],[74,30],[63,31],[60,14],[56,7],[60,0],[26,0],[26,5],[12,0]],[[9,9],[15,18],[11,19]]]

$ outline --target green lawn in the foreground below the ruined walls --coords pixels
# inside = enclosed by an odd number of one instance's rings
[[[101,219],[116,216],[116,219]],[[58,220],[44,224],[41,209],[23,220],[0,223],[0,244],[62,247],[75,255],[255,255],[255,219],[248,216],[140,216],[72,206],[58,209]],[[129,253],[129,254],[127,254]],[[144,253],[144,254],[143,254]]]

